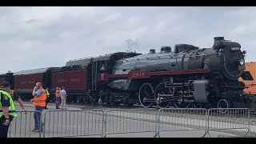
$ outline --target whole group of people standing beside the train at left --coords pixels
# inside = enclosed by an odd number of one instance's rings
[[[15,110],[14,100],[19,103],[22,107],[23,112],[26,114],[27,110],[24,106],[21,98],[14,90],[10,89],[9,82],[0,83],[0,138],[7,138],[10,122],[17,117],[17,112]],[[49,88],[44,89],[41,82],[37,82],[34,86],[32,96],[33,99],[30,100],[32,105],[35,106],[35,110],[42,112],[47,108],[47,103],[50,102]],[[62,102],[62,110],[66,109],[66,90],[65,87],[56,87],[55,98],[56,98],[56,109],[60,109],[59,105]],[[42,120],[40,118],[41,114],[39,112],[34,112],[34,129],[33,132],[42,131]],[[41,125],[40,125],[41,122]]]

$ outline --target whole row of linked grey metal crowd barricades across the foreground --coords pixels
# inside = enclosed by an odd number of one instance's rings
[[[9,138],[82,137],[108,134],[160,133],[180,130],[203,130],[210,132],[222,130],[247,130],[250,133],[250,111],[246,108],[229,109],[115,109],[115,110],[47,110],[44,115],[43,131],[34,129],[34,113],[17,111],[18,117],[10,122]],[[42,120],[41,120],[42,121]],[[39,129],[40,130],[40,129]],[[224,132],[224,131],[223,131]],[[236,133],[236,131],[232,132]],[[241,133],[241,132],[240,132]]]

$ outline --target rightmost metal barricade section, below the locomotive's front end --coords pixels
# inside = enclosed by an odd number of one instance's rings
[[[223,108],[208,110],[207,131],[246,129],[250,131],[250,110],[247,108]],[[243,134],[243,136],[246,136]]]

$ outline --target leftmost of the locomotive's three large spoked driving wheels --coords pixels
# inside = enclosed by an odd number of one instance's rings
[[[143,107],[149,108],[152,106],[154,102],[152,101],[154,99],[153,86],[150,83],[144,83],[139,89],[138,98]]]

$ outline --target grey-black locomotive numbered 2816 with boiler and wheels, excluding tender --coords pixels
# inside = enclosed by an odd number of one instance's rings
[[[156,53],[139,54],[114,62],[108,72],[98,72],[99,102],[160,108],[246,107],[242,77],[246,51],[238,42],[214,38],[211,48],[178,44],[162,46]]]

